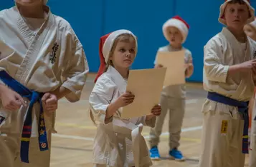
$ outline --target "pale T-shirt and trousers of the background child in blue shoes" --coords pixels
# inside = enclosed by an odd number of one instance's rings
[[[189,64],[192,60],[192,54],[189,49],[185,49],[184,63]],[[163,46],[158,51],[179,51],[171,48],[171,45]],[[154,62],[156,64],[156,60]],[[181,126],[183,123],[185,113],[185,98],[186,98],[186,86],[185,84],[171,85],[163,87],[161,92],[161,115],[156,118],[156,126],[151,128],[149,143],[150,146],[158,146],[160,136],[163,128],[163,121],[166,118],[166,114],[169,111],[169,148],[178,148],[181,138]]]

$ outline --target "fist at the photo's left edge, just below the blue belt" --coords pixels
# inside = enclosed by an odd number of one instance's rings
[[[27,106],[22,96],[6,86],[1,86],[1,103],[8,111],[16,111],[22,105]]]

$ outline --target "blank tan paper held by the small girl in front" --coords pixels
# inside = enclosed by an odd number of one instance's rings
[[[160,101],[166,68],[131,70],[126,91],[131,91],[133,103],[123,107],[122,118],[151,114],[151,109]]]

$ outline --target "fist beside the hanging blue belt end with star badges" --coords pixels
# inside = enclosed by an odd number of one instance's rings
[[[42,96],[42,102],[45,105],[44,109],[48,113],[52,113],[58,108],[58,99],[53,93],[44,93],[44,96]]]

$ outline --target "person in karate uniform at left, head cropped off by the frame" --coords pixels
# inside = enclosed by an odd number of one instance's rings
[[[89,68],[47,0],[15,3],[0,11],[0,166],[49,167],[58,101],[80,100]]]

